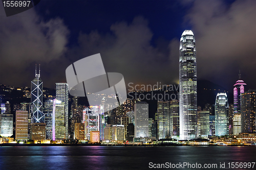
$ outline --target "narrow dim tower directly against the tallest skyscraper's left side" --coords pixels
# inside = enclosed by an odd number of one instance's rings
[[[179,100],[170,101],[170,117],[173,118],[173,134],[172,136],[180,135],[180,116],[179,116]]]

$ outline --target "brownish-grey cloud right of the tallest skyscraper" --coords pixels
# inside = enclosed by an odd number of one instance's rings
[[[198,77],[232,87],[256,85],[256,2],[195,1],[185,16],[196,37]],[[230,80],[231,79],[231,80]]]

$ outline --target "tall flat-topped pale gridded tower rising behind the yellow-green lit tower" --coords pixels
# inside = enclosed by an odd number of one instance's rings
[[[56,99],[65,105],[65,138],[69,138],[69,86],[67,83],[56,83]]]

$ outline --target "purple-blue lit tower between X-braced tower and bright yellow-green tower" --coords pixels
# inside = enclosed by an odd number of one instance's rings
[[[53,100],[45,101],[44,113],[45,113],[45,124],[46,124],[46,139],[52,140]]]

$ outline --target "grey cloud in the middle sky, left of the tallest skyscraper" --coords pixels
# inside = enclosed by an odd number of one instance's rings
[[[72,49],[69,56],[76,56],[72,60],[74,62],[100,53],[105,70],[120,72],[126,84],[156,84],[157,81],[172,83],[170,80],[173,80],[175,74],[172,74],[171,64],[174,62],[169,59],[169,42],[159,39],[156,46],[153,46],[152,37],[153,32],[148,27],[148,21],[137,16],[131,23],[114,23],[108,34],[102,35],[96,30],[90,34],[80,33],[79,46]],[[177,65],[178,57],[175,58]]]

